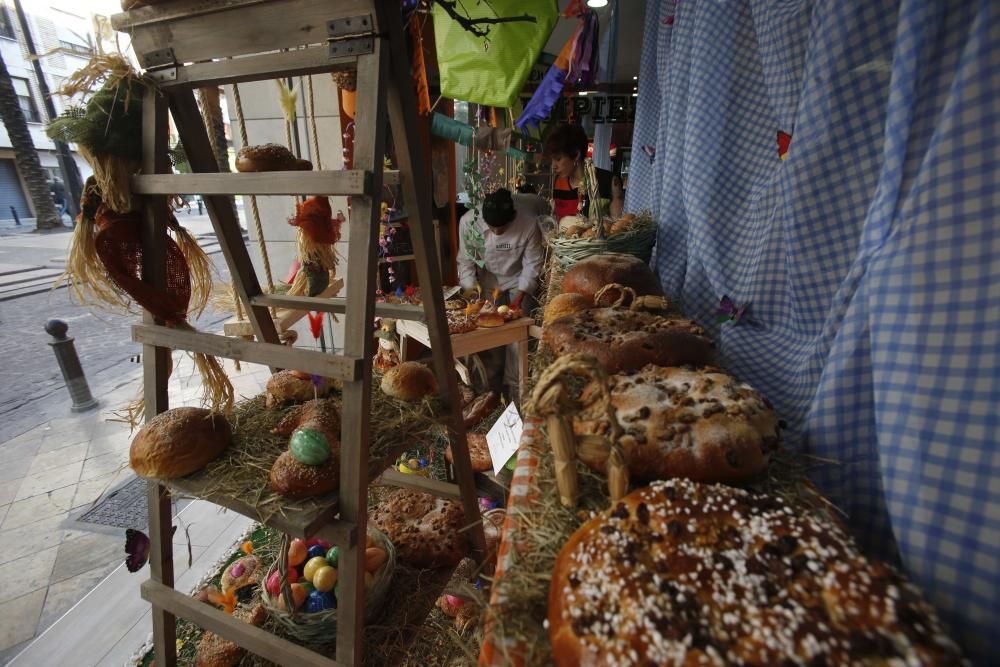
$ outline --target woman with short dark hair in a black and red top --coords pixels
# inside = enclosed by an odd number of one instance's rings
[[[583,160],[587,157],[590,140],[579,125],[560,125],[545,140],[545,154],[552,161],[552,198],[555,217],[590,213],[590,195],[581,193]],[[597,189],[602,199],[611,200],[608,213],[621,216],[624,208],[621,180],[611,172],[597,169]],[[617,181],[617,183],[615,182]]]

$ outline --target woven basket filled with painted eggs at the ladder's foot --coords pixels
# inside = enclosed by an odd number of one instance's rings
[[[301,578],[298,574],[294,575],[296,581],[290,586],[294,598],[293,610],[288,611],[285,596],[280,593],[278,560],[274,561],[264,578],[261,601],[271,617],[295,639],[305,644],[329,644],[337,631],[337,548],[330,548],[322,557],[317,554],[302,561],[300,554],[296,553],[298,545],[295,542],[301,541],[293,540],[288,548],[282,548],[282,555],[279,556],[286,559],[286,569],[289,572],[297,573],[298,566],[302,565]],[[310,553],[312,552],[307,551],[307,556]],[[392,575],[396,571],[396,550],[392,542],[385,533],[372,525],[368,526],[364,557],[365,623],[370,623],[381,611],[392,583]],[[308,590],[303,585],[305,583],[312,590]]]

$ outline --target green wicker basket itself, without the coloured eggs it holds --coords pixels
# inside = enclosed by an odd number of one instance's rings
[[[368,526],[368,533],[372,536],[376,546],[385,549],[386,560],[382,567],[375,574],[372,585],[365,591],[365,623],[370,623],[377,616],[385,603],[389,592],[389,585],[392,583],[392,575],[396,571],[396,549],[385,533],[375,526]],[[361,557],[364,558],[364,550],[361,550]],[[267,582],[271,573],[278,567],[276,560],[267,570],[264,582]],[[307,613],[304,611],[288,612],[278,607],[279,599],[271,597],[267,592],[267,586],[262,583],[260,587],[261,601],[264,607],[270,612],[271,618],[275,619],[281,627],[292,637],[306,644],[329,644],[337,636],[337,610],[327,609]]]

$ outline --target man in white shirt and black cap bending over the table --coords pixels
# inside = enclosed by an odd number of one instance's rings
[[[547,213],[545,201],[537,195],[511,195],[499,189],[486,196],[481,210],[473,209],[459,221],[458,276],[469,292],[478,283],[484,298],[500,288],[497,305],[509,304],[530,313],[542,272],[544,248],[539,217]],[[513,346],[508,346],[506,362],[502,350],[485,354],[490,388],[503,384],[517,387],[517,363]],[[506,367],[506,373],[505,373]]]

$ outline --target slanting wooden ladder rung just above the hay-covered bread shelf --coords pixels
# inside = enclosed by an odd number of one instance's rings
[[[156,345],[171,350],[199,352],[213,357],[224,357],[275,368],[289,368],[344,382],[358,380],[362,372],[361,359],[273,343],[257,343],[217,334],[171,329],[154,324],[133,325],[132,340],[144,345]]]

